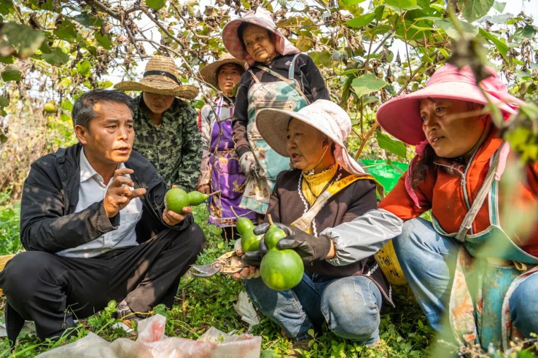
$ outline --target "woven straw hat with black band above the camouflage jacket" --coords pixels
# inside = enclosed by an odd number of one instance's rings
[[[153,55],[147,62],[142,81],[123,81],[114,86],[122,91],[146,91],[167,94],[186,99],[193,99],[198,89],[191,85],[182,85],[178,79],[178,67],[171,57]]]

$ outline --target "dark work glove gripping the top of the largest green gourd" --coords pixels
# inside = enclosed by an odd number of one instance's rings
[[[295,250],[303,262],[309,264],[315,260],[323,260],[329,254],[331,249],[331,239],[328,236],[322,235],[315,237],[306,233],[298,228],[295,228],[290,225],[285,225],[281,223],[275,223],[277,227],[284,230],[286,237],[281,238],[277,243],[279,249],[293,249]],[[261,235],[269,229],[269,223],[263,223],[258,227],[254,228],[254,234]],[[263,242],[263,239],[262,239]],[[260,243],[260,256],[267,252],[267,246],[263,244],[264,249],[261,247]],[[263,251],[265,250],[265,251]]]

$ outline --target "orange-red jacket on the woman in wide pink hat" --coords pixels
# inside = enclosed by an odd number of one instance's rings
[[[464,190],[469,196],[469,203],[472,205],[480,187],[486,177],[490,167],[490,158],[499,148],[502,140],[497,137],[495,131],[480,146],[473,158],[466,176],[466,187],[462,186],[462,176],[459,174],[447,174],[437,167],[435,172],[427,174],[426,179],[415,188],[415,193],[419,199],[420,208],[415,205],[405,188],[405,177],[407,172],[400,178],[398,184],[379,204],[379,208],[391,211],[402,220],[409,220],[420,216],[431,209],[432,214],[437,219],[443,230],[447,232],[457,232],[463,222],[463,218],[468,212]],[[509,159],[510,160],[510,157]],[[465,168],[461,166],[463,172]],[[509,198],[500,196],[499,205],[502,215],[502,208],[508,204],[511,210],[515,210],[518,215],[525,215],[523,206],[528,206],[532,210],[537,210],[538,202],[538,162],[526,165],[525,173],[527,180],[518,184],[515,193],[511,193]],[[489,227],[489,203],[484,201],[478,215],[473,222],[473,232],[480,232]],[[502,226],[502,217],[500,218]],[[534,224],[532,233],[528,237],[521,237],[518,232],[510,232],[508,235],[518,244],[522,250],[537,256],[538,255],[538,223]]]

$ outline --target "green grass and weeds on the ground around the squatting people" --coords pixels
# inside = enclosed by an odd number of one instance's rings
[[[205,207],[196,208],[196,222],[203,228],[207,239],[206,250],[200,255],[197,264],[207,264],[230,249],[220,236],[221,230],[207,224],[207,215]],[[19,250],[18,206],[0,206],[0,254]],[[232,330],[237,330],[238,333],[245,332],[247,324],[240,320],[239,315],[233,309],[233,304],[237,302],[237,296],[242,289],[241,281],[232,280],[220,274],[208,279],[200,279],[187,274],[181,279],[178,299],[172,310],[157,306],[154,311],[167,317],[165,333],[168,336],[196,339],[210,326],[215,326],[224,332]],[[183,294],[185,294],[185,302],[182,302]],[[412,295],[407,289],[397,290],[394,294],[397,308],[392,309],[385,305],[381,310],[380,336],[383,341],[383,350],[386,350],[388,357],[426,357],[434,345],[434,331],[410,296]],[[0,302],[0,307],[2,306],[3,302]],[[136,337],[132,337],[121,329],[112,328],[112,325],[117,322],[113,318],[114,311],[115,303],[112,302],[103,311],[81,320],[79,326],[75,327],[76,337],[70,339],[40,342],[33,335],[22,334],[19,336],[15,353],[11,355],[9,355],[9,345],[5,338],[0,341],[0,357],[33,357],[45,350],[84,337],[90,331],[109,341],[119,337],[135,339]],[[310,333],[309,345],[312,350],[305,352],[305,357],[374,358],[383,356],[380,350],[360,346],[337,337],[326,326],[321,332],[311,331]],[[288,352],[290,342],[282,335],[280,327],[265,317],[261,317],[260,324],[253,327],[252,334],[263,337],[262,357],[280,357]],[[532,357],[532,355],[520,355],[520,357]]]

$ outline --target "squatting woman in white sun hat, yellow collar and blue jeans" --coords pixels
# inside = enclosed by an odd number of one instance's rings
[[[295,167],[277,177],[267,210],[282,227],[293,224],[298,232],[317,235],[376,208],[376,181],[345,149],[351,120],[337,104],[317,100],[298,112],[264,109],[256,124],[271,148],[290,157]],[[267,227],[261,224],[256,232]],[[329,259],[335,247],[329,242],[312,242],[309,250],[302,255],[306,272],[293,289],[272,290],[260,277],[245,280],[254,305],[301,342],[295,348],[304,348],[308,330],[323,322],[340,337],[375,344],[381,301],[392,302],[374,258],[335,266]]]

